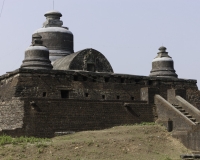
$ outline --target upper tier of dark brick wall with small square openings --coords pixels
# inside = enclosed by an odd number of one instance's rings
[[[21,70],[15,97],[62,98],[85,100],[140,100],[143,87],[158,88],[167,99],[167,90],[198,91],[195,80],[167,79],[123,74]],[[188,92],[189,93],[189,92]]]

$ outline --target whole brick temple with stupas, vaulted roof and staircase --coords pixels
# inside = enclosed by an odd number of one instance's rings
[[[178,78],[173,53],[160,47],[149,76],[116,74],[101,52],[74,52],[60,12],[45,17],[20,68],[0,76],[0,134],[53,137],[158,122],[200,149],[200,91],[196,80]]]

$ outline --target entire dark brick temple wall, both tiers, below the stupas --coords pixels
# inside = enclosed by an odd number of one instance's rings
[[[10,121],[1,124],[7,126],[4,132],[40,137],[153,122],[154,102],[141,98],[144,88],[156,88],[154,93],[164,98],[171,88],[198,91],[195,80],[83,71],[18,69],[0,80],[0,113],[6,113],[1,119],[10,114]]]

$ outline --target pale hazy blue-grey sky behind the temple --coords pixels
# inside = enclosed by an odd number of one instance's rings
[[[0,0],[0,7],[3,0]],[[94,48],[115,73],[148,76],[158,48],[167,47],[179,78],[200,84],[200,1],[55,0],[74,51]],[[0,74],[20,67],[32,33],[53,0],[5,0],[0,17]]]

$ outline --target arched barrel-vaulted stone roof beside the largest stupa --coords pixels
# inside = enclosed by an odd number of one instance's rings
[[[84,49],[56,60],[53,63],[53,69],[113,73],[113,69],[106,57],[92,48]]]

